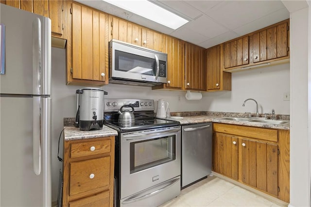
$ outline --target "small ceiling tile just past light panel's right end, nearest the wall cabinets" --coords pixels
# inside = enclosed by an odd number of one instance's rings
[[[186,27],[182,27],[181,29],[172,32],[170,35],[195,45],[198,45],[200,42],[204,42],[208,39],[207,36],[194,32]]]

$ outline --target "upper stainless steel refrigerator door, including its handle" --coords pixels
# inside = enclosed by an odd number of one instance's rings
[[[1,94],[51,95],[51,20],[1,4],[5,74]]]

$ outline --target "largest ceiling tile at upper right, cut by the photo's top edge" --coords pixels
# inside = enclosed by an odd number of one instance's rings
[[[233,30],[282,8],[278,0],[232,0],[217,4],[206,15]]]

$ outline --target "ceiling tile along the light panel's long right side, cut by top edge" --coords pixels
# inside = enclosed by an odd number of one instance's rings
[[[198,16],[202,15],[200,11],[181,0],[156,0],[153,1],[153,3],[172,11],[173,13],[181,15],[182,17],[183,15],[188,16],[190,19],[196,19]]]

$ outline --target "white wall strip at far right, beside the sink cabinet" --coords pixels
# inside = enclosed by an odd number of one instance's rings
[[[290,206],[310,205],[310,137],[308,137],[309,8],[290,13],[291,143]]]

